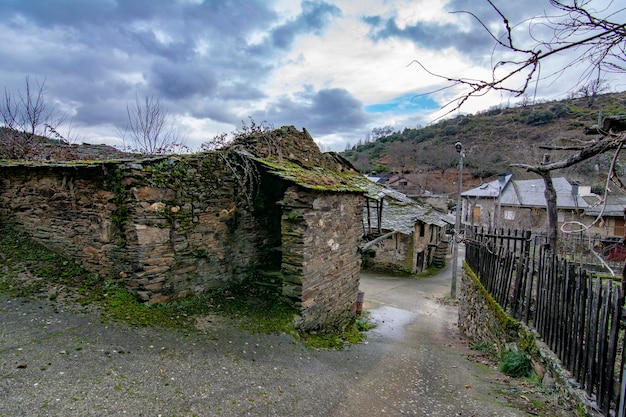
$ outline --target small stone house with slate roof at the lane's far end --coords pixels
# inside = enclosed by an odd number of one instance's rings
[[[419,204],[404,194],[369,183],[364,187],[363,228],[367,268],[416,274],[442,266],[448,248],[447,231],[454,218]]]

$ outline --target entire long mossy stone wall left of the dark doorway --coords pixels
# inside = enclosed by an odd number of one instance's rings
[[[267,258],[268,211],[242,201],[217,154],[2,173],[1,220],[144,301],[240,281]]]

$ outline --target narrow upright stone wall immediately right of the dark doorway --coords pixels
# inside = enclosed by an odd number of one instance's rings
[[[283,292],[297,300],[301,326],[343,328],[355,315],[363,198],[291,187],[283,207]]]

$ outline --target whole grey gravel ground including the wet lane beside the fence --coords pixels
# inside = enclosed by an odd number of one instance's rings
[[[555,415],[529,414],[508,395],[523,386],[468,359],[456,306],[437,301],[445,273],[363,274],[378,326],[343,351],[220,317],[181,332],[0,297],[0,416]]]

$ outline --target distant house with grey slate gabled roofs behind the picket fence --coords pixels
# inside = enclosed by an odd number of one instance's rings
[[[584,197],[590,187],[570,184],[563,177],[552,179],[557,193],[559,225],[582,221],[589,203]],[[486,228],[545,231],[546,200],[542,179],[514,180],[513,174],[502,174],[494,181],[461,193],[461,222]]]

